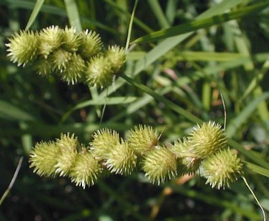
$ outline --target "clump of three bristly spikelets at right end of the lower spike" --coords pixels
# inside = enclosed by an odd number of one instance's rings
[[[230,182],[243,175],[236,153],[227,144],[225,131],[215,122],[203,123],[170,147],[179,160],[179,173],[195,174],[199,171],[212,187],[225,189]]]

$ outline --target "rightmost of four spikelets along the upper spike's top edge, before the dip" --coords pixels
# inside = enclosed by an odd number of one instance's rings
[[[79,46],[79,54],[83,59],[97,55],[102,47],[101,38],[96,32],[87,29],[85,33],[81,33],[81,44]]]

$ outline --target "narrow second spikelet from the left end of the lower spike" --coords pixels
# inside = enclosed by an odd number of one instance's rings
[[[61,134],[61,138],[57,139],[55,144],[59,146],[61,155],[57,156],[56,173],[60,176],[66,176],[70,173],[72,166],[77,157],[77,137],[74,134]]]

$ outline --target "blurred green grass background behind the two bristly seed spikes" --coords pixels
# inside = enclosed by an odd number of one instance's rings
[[[138,1],[131,19],[134,6],[128,0],[0,1],[0,195],[24,156],[0,220],[261,220],[242,180],[226,190],[199,177],[156,186],[137,171],[83,190],[28,168],[34,143],[60,133],[87,144],[99,128],[124,136],[147,124],[169,144],[197,123],[224,124],[221,95],[229,144],[268,214],[269,1]],[[50,25],[95,30],[105,46],[130,41],[122,77],[106,90],[68,86],[8,60],[4,44],[13,32]]]

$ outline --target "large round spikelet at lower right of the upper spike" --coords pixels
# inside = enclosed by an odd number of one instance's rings
[[[108,59],[103,55],[92,57],[88,62],[85,79],[89,86],[98,88],[110,86],[113,81],[113,73]]]

